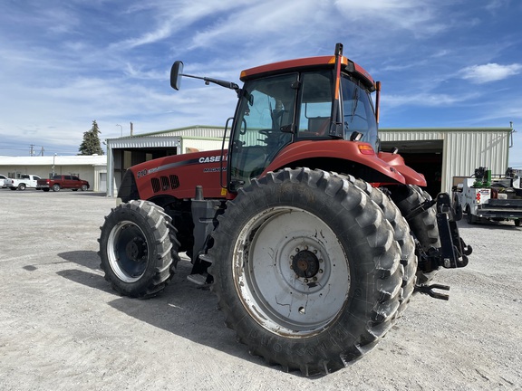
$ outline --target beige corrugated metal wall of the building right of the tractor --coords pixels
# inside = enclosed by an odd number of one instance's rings
[[[503,174],[512,131],[511,128],[381,129],[380,137],[382,141],[442,140],[441,190],[450,192],[453,176],[470,176],[477,167]]]

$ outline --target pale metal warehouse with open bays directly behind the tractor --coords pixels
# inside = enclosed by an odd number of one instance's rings
[[[382,150],[398,148],[406,164],[426,176],[432,196],[450,192],[453,176],[470,176],[477,167],[504,173],[512,127],[380,129]],[[107,144],[107,196],[115,196],[125,170],[156,157],[219,149],[224,129],[194,126],[124,138]]]

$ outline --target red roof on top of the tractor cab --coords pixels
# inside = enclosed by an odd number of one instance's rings
[[[371,91],[374,90],[375,82],[370,73],[366,72],[362,66],[342,57],[343,71],[353,74],[360,79]],[[283,62],[273,62],[266,65],[256,66],[241,72],[240,80],[247,81],[262,76],[269,76],[282,72],[293,72],[303,70],[314,70],[332,68],[335,65],[335,56],[307,57],[302,59],[287,60]]]

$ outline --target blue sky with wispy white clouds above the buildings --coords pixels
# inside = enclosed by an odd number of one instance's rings
[[[519,0],[0,0],[0,155],[73,155],[101,138],[223,126],[243,69],[328,55],[335,43],[382,81],[382,128],[519,129]],[[116,124],[120,124],[121,127]]]

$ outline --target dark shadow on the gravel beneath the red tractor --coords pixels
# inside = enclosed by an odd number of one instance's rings
[[[100,305],[108,304],[131,318],[151,326],[266,367],[262,358],[250,356],[247,347],[237,342],[236,333],[227,329],[225,317],[218,310],[216,295],[208,287],[202,288],[187,280],[192,269],[190,262],[183,260],[179,262],[177,274],[159,296],[149,300],[139,300],[122,297],[112,291],[110,283],[103,277],[97,253],[79,251],[60,253],[59,256],[65,261],[76,262],[92,269],[92,272],[69,269],[57,274],[116,297],[114,300],[102,300]]]

